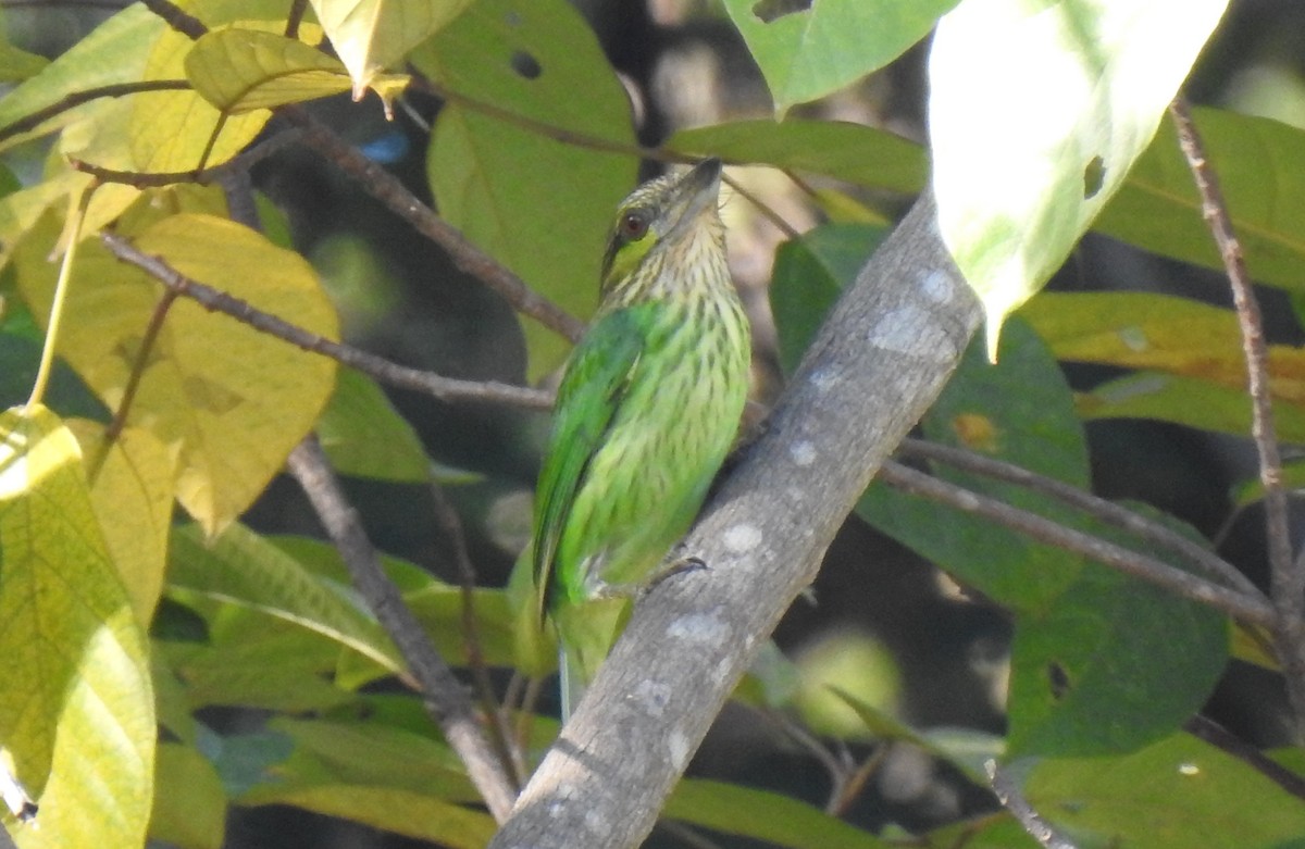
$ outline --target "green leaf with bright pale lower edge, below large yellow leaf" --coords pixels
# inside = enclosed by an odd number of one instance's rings
[[[390,672],[403,660],[350,587],[304,569],[282,549],[232,524],[210,543],[196,526],[172,535],[172,587],[270,613],[365,655]]]

